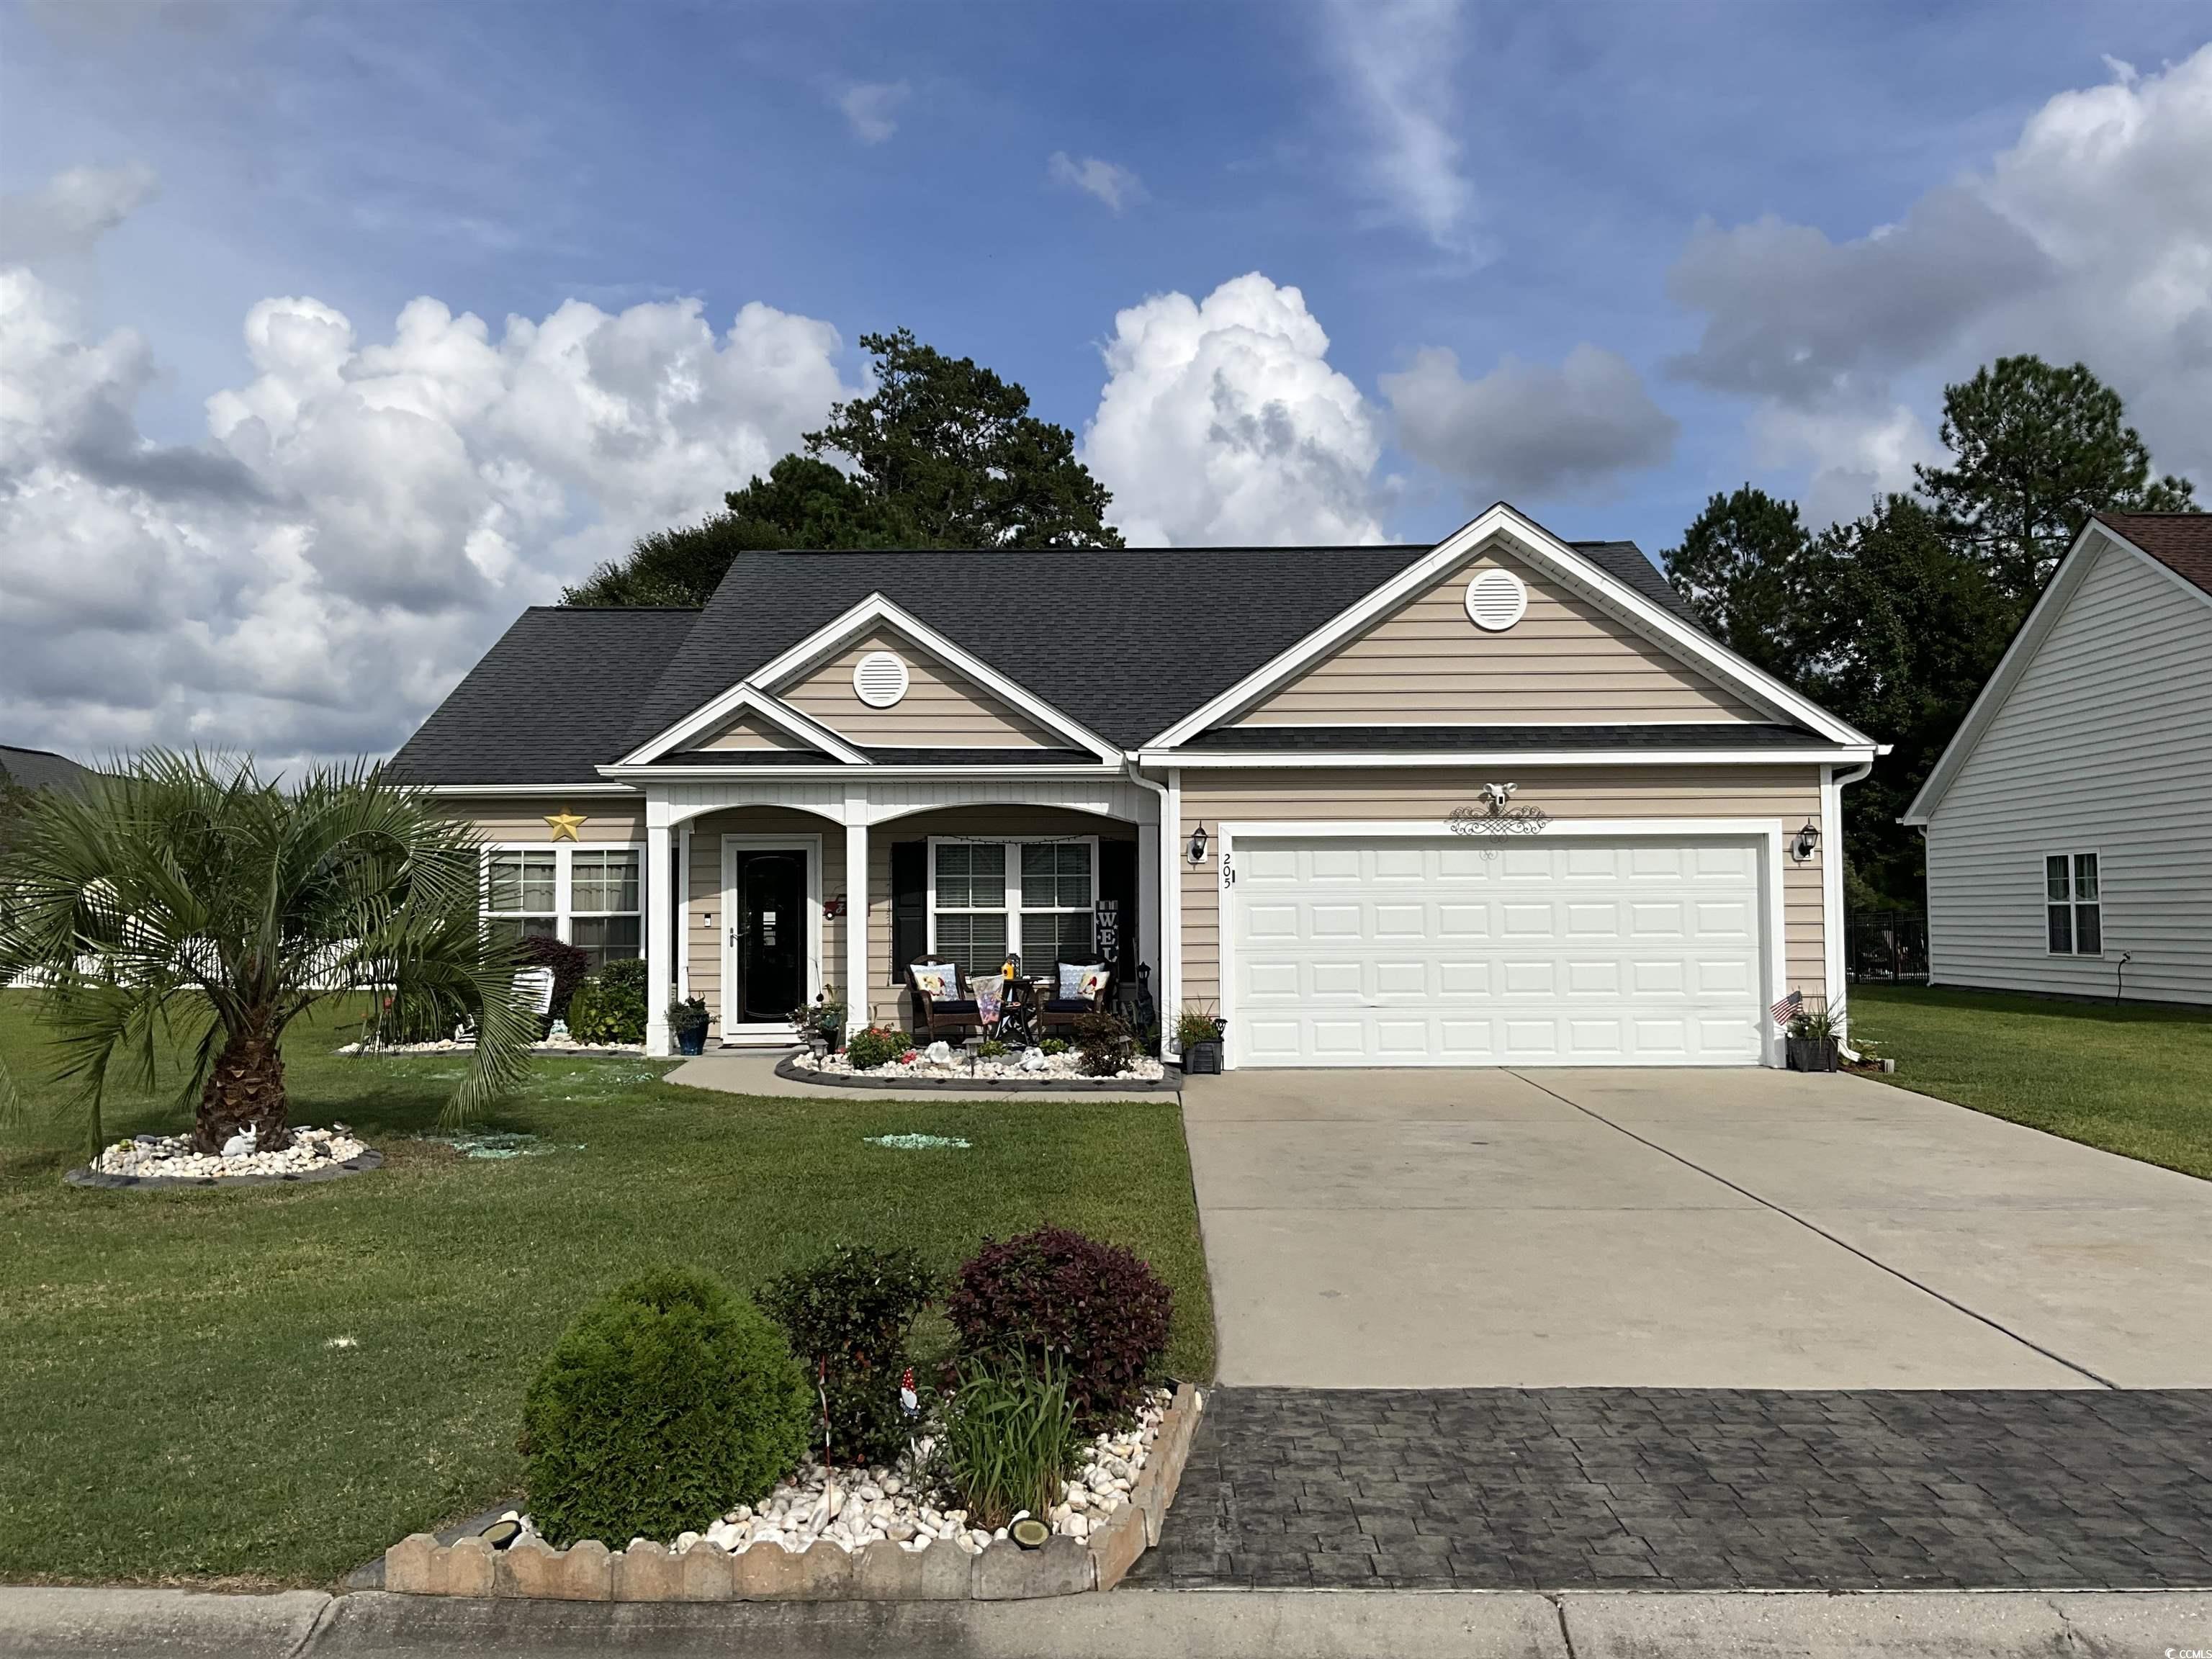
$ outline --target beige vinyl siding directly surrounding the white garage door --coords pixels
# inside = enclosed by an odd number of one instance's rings
[[[1374,772],[1183,772],[1177,845],[1203,823],[1433,821],[1482,799],[1489,772],[1400,768]],[[1513,805],[1553,818],[1778,818],[1785,830],[1820,821],[1820,770],[1812,765],[1528,768]],[[1181,863],[1183,1002],[1221,1000],[1219,858]],[[1820,865],[1783,872],[1785,980],[1807,998],[1827,989],[1820,947]]]

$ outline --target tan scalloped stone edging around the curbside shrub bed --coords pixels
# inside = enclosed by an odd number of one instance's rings
[[[560,1551],[538,1540],[495,1551],[482,1537],[440,1544],[436,1533],[414,1533],[385,1551],[385,1588],[549,1601],[1026,1601],[1110,1590],[1159,1542],[1201,1409],[1199,1391],[1177,1385],[1128,1502],[1082,1544],[1053,1533],[1035,1551],[1000,1537],[978,1555],[947,1540],[920,1551],[878,1540],[849,1553],[830,1542],[805,1551],[754,1544],[739,1555],[692,1544],[672,1555],[666,1544],[617,1553],[595,1537]]]

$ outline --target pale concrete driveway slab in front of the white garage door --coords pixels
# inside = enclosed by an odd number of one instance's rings
[[[1183,1095],[1221,1380],[2212,1387],[2212,1183],[1863,1077]]]

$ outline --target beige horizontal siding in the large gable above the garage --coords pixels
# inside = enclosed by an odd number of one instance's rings
[[[1506,568],[1528,584],[1528,615],[1504,633],[1467,617],[1467,584]],[[1608,726],[1761,721],[1734,692],[1661,646],[1486,553],[1310,668],[1239,726]]]

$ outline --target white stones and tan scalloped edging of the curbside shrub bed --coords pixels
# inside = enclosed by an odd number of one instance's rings
[[[1155,1389],[1137,1427],[1097,1436],[1051,1537],[1022,1548],[1009,1528],[967,1526],[911,1471],[807,1464],[759,1509],[732,1509],[675,1542],[599,1540],[549,1548],[511,1515],[487,1535],[440,1544],[416,1533],[385,1553],[385,1588],[416,1595],[515,1595],[582,1601],[1020,1599],[1110,1590],[1159,1542],[1201,1409],[1186,1383]],[[502,1540],[502,1542],[493,1542]]]

